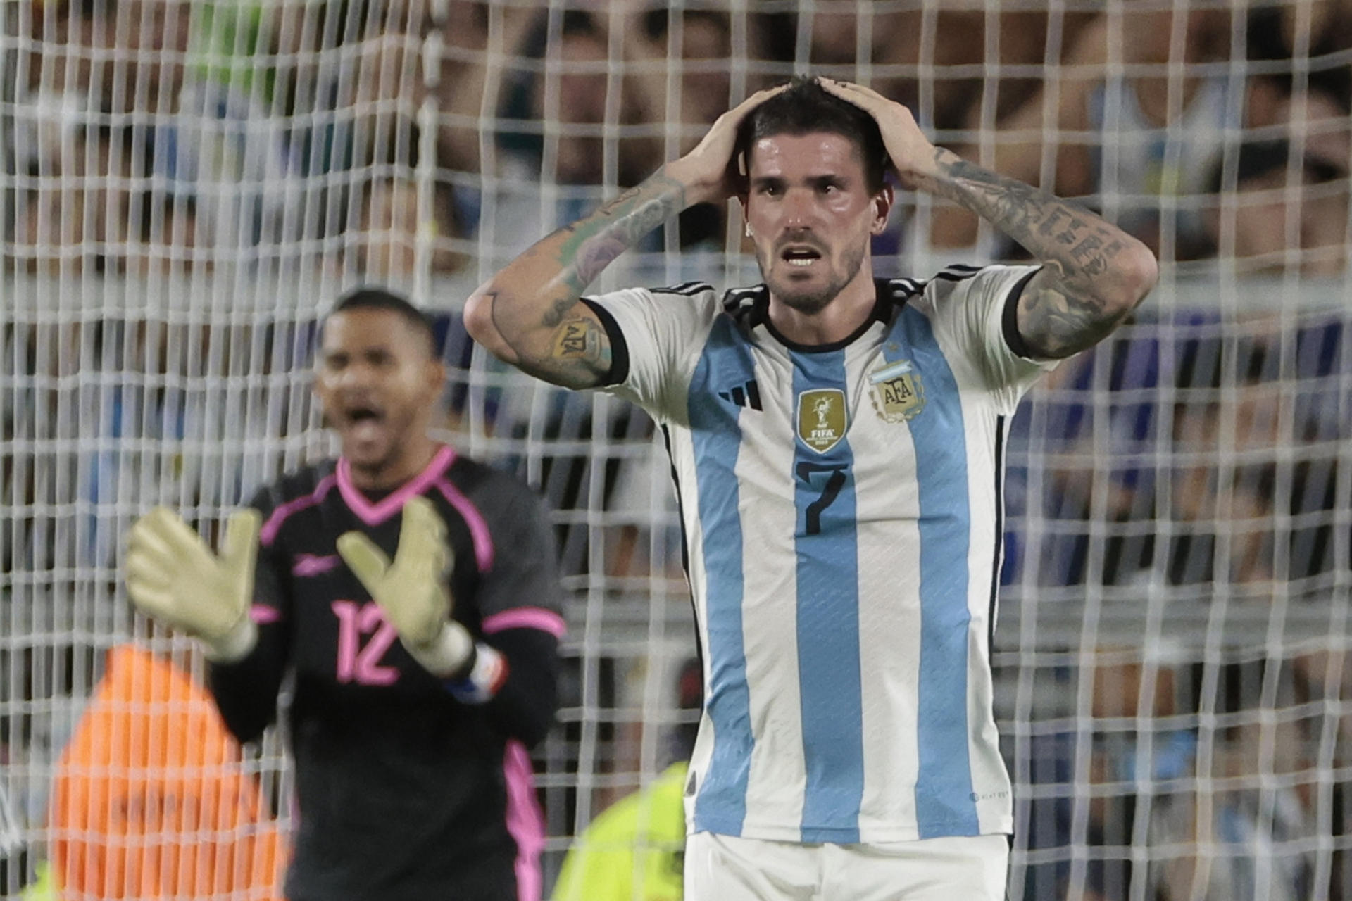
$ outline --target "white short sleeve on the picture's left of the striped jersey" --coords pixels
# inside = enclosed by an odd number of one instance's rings
[[[684,388],[719,312],[714,289],[703,284],[627,288],[584,300],[610,317],[606,326],[612,353],[627,363],[623,381],[604,390],[638,404],[658,420],[683,417]]]

